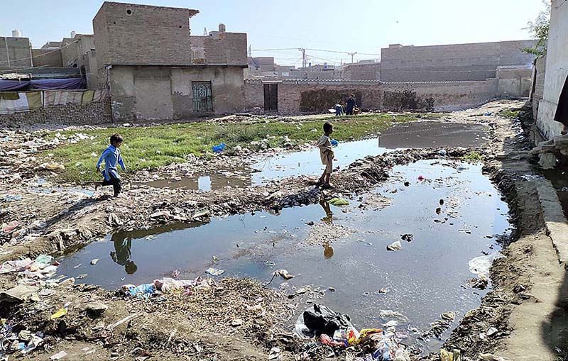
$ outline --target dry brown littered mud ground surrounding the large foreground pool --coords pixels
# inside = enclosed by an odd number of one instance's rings
[[[482,122],[488,126],[488,142],[475,151],[484,157],[485,171],[506,196],[517,230],[503,250],[506,257],[496,260],[491,269],[493,291],[484,297],[478,309],[464,317],[445,347],[460,348],[471,360],[477,360],[480,352],[492,352],[510,360],[562,360],[559,357],[566,348],[568,325],[564,265],[559,262],[555,240],[549,235],[550,210],[543,213],[539,201],[544,197],[554,203],[555,193],[550,193],[550,182],[545,179],[528,177],[534,171],[525,152],[525,140],[518,137],[518,123],[496,115],[501,109],[515,106],[520,104],[493,102],[481,109],[448,115],[452,121]],[[493,111],[493,115],[481,116],[487,111]],[[460,157],[469,151],[449,150],[448,157]],[[219,189],[208,193],[130,187],[119,201],[77,199],[66,191],[70,186],[62,186],[62,191],[55,195],[22,192],[23,199],[10,202],[2,217],[6,221],[18,220],[24,226],[4,244],[0,261],[76,248],[119,229],[201,220],[206,217],[202,216],[204,213],[221,216],[278,210],[337,194],[364,194],[386,179],[393,165],[432,157],[437,157],[437,150],[406,150],[367,157],[334,174],[336,188],[330,191],[310,187],[308,180],[300,177],[239,191]],[[231,162],[238,164],[241,160],[219,157],[207,167]],[[3,163],[19,167],[21,179],[4,179],[1,194],[25,189],[36,172],[33,165],[26,168],[10,159]],[[57,179],[56,174],[43,175],[51,182]],[[553,216],[557,223],[566,222],[562,211]],[[32,232],[26,229],[38,220],[45,222],[45,228]],[[3,289],[16,282],[13,274],[1,275]],[[168,294],[158,301],[124,298],[78,284],[79,280],[76,283],[50,288],[55,293],[40,294],[39,301],[10,307],[4,304],[0,309],[0,316],[16,325],[13,331],[45,333],[43,345],[24,359],[48,360],[50,355],[65,350],[68,360],[133,360],[144,357],[144,351],[155,360],[267,360],[273,347],[282,350],[280,356],[284,360],[302,356],[302,345],[286,326],[293,322],[297,305],[305,304],[305,300],[290,300],[250,279],[224,279],[207,289]],[[305,297],[317,299],[317,294]],[[50,315],[67,302],[67,315],[50,320]],[[97,315],[93,309],[101,304],[107,309]],[[111,327],[129,315],[133,315],[129,321]],[[480,337],[489,327],[497,328],[498,333]],[[322,351],[314,358],[324,355]],[[345,357],[350,358],[351,354],[343,354],[342,358]],[[438,356],[427,357],[435,360]]]

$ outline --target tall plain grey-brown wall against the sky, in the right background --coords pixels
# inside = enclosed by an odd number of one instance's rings
[[[536,40],[501,41],[381,49],[381,81],[439,82],[496,77],[499,66],[532,65],[533,55],[521,51]]]

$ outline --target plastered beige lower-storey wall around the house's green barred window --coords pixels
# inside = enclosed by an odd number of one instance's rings
[[[211,82],[212,113],[238,113],[244,109],[242,67],[114,66],[109,70],[109,82],[117,121],[204,115],[193,110],[192,82]]]

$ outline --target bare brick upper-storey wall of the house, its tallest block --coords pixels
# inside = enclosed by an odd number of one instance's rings
[[[105,2],[93,19],[99,67],[191,65],[189,17],[195,13]]]

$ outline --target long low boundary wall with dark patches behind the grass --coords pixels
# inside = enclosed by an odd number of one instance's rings
[[[417,111],[455,111],[484,104],[497,96],[498,79],[484,82],[408,82],[313,81],[287,79],[278,82],[278,113],[322,113],[349,94],[356,96],[362,109]],[[245,109],[263,113],[264,96],[261,80],[246,80]],[[321,104],[311,104],[310,99]],[[403,99],[410,101],[405,104]]]

